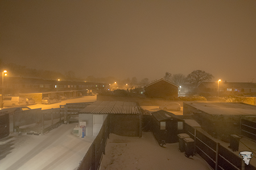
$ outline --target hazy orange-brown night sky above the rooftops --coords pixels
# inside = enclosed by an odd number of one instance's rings
[[[1,0],[0,34],[2,61],[33,69],[256,83],[254,0]]]

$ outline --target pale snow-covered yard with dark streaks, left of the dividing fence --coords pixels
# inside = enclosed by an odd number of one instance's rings
[[[77,169],[94,137],[73,135],[75,126],[63,124],[44,135],[11,134],[13,138],[0,143],[0,147],[10,144],[0,169]]]

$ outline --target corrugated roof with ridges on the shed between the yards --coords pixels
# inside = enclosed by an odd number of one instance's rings
[[[79,113],[90,114],[142,114],[142,109],[134,101],[95,101]]]

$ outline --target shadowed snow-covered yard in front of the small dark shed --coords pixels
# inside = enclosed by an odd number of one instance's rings
[[[178,150],[179,143],[158,145],[151,132],[143,132],[142,138],[122,137],[110,134],[101,170],[210,170],[199,155],[187,158]]]

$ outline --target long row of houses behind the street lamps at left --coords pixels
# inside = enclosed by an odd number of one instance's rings
[[[4,96],[32,97],[40,102],[43,97],[78,97],[108,90],[109,84],[92,82],[72,82],[65,80],[45,80],[5,76],[0,84]]]

